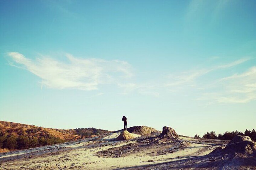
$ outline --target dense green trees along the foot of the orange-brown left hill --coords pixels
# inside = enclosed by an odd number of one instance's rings
[[[28,149],[32,147],[40,147],[45,145],[58,144],[62,142],[65,142],[65,140],[54,137],[53,135],[50,134],[40,137],[24,135],[17,137],[13,134],[4,134],[0,136],[0,149]]]

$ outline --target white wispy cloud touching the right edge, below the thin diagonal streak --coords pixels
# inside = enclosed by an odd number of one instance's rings
[[[256,100],[256,66],[247,71],[234,74],[216,82],[211,82],[207,92],[203,93],[197,100],[215,101],[217,103],[248,103]]]

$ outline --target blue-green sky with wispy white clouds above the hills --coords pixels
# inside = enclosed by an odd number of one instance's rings
[[[0,120],[256,128],[256,2],[0,1]]]

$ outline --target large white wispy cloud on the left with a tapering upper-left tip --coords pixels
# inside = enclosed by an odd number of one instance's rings
[[[42,79],[42,85],[56,88],[74,88],[95,90],[100,84],[119,84],[133,76],[129,63],[120,60],[80,59],[65,54],[68,62],[61,62],[51,57],[40,57],[36,60],[26,58],[18,52],[10,52],[8,56],[15,63]]]

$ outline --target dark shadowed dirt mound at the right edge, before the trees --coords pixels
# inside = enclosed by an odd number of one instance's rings
[[[250,154],[256,156],[256,142],[251,141],[248,136],[235,136],[225,148],[217,148],[212,153],[235,155],[235,157],[243,157]]]

